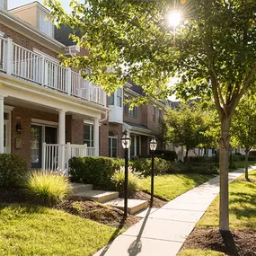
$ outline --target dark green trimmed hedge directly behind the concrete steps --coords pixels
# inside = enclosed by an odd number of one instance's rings
[[[69,160],[69,171],[74,182],[89,183],[110,189],[111,177],[124,165],[124,160],[109,157],[84,156]]]

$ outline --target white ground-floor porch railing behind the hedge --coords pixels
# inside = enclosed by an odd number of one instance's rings
[[[93,156],[94,147],[74,144],[46,144],[43,143],[42,170],[62,172],[68,175],[68,162],[74,156]]]

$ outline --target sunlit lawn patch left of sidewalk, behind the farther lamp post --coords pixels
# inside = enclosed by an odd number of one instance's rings
[[[172,200],[191,190],[200,184],[212,179],[213,175],[205,174],[166,174],[154,177],[154,196]],[[151,188],[151,177],[146,177],[141,180],[142,190],[150,192]]]

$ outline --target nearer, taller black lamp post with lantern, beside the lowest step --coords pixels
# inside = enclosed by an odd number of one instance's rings
[[[124,216],[128,216],[128,148],[131,144],[131,138],[128,136],[128,130],[125,129],[122,137],[122,147],[125,150],[125,206],[124,206]]]

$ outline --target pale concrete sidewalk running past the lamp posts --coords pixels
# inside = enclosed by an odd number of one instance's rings
[[[234,181],[241,174],[242,169],[229,173],[229,181]],[[157,210],[148,208],[140,222],[94,256],[176,255],[218,193],[217,176]]]

